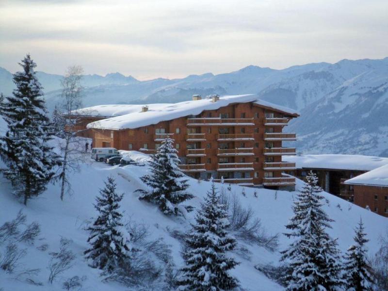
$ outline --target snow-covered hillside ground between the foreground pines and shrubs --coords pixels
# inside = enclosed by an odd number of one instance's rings
[[[128,154],[132,159],[139,162],[145,162],[147,159],[146,155],[138,152],[126,151],[123,154]],[[62,282],[66,278],[74,275],[79,275],[80,277],[85,275],[87,279],[83,283],[82,290],[128,290],[128,288],[116,283],[101,283],[99,271],[88,267],[82,255],[83,251],[88,247],[86,242],[88,233],[83,230],[83,227],[87,221],[90,221],[92,217],[97,215],[93,203],[98,190],[103,187],[103,181],[108,176],[116,179],[118,193],[125,193],[121,208],[125,210],[124,217],[126,219],[130,217],[131,220],[148,225],[151,239],[163,237],[164,241],[170,245],[175,264],[178,267],[181,266],[183,261],[180,256],[180,244],[170,233],[174,229],[180,231],[189,230],[190,223],[194,221],[195,211],[189,213],[185,218],[167,217],[154,205],[145,201],[139,201],[139,194],[134,193],[134,191],[144,187],[140,177],[148,171],[149,168],[147,166],[109,166],[105,163],[94,162],[88,159],[87,162],[82,164],[79,173],[71,175],[73,194],[71,196],[67,195],[65,201],[61,202],[59,198],[60,186],[49,185],[48,190],[39,198],[29,201],[27,207],[16,201],[11,194],[9,183],[1,178],[0,225],[5,221],[14,219],[17,212],[22,210],[27,215],[28,222],[37,221],[41,225],[42,232],[40,239],[34,245],[23,245],[28,252],[20,260],[18,270],[14,274],[6,274],[0,270],[0,289],[3,288],[4,291],[61,290]],[[210,188],[210,182],[198,182],[195,179],[189,178],[189,184],[189,192],[196,197],[188,204],[197,208],[203,201],[206,191]],[[300,189],[302,184],[298,180],[297,189]],[[222,187],[219,183],[216,183],[216,185],[218,189]],[[227,185],[224,185],[224,187],[226,188]],[[254,191],[257,191],[258,197],[254,196]],[[285,232],[285,225],[292,215],[291,205],[296,192],[245,187],[246,196],[243,196],[242,187],[232,185],[231,192],[227,193],[235,193],[240,199],[242,206],[246,208],[251,207],[269,234],[280,234],[279,250],[284,249],[288,245],[290,241],[281,233]],[[353,228],[361,217],[364,221],[368,238],[371,240],[368,243],[368,247],[371,250],[370,255],[374,255],[378,248],[379,235],[388,228],[388,219],[331,194],[324,193],[324,196],[327,199],[324,209],[335,220],[332,223],[333,229],[330,229],[329,233],[333,237],[339,238],[338,242],[341,250],[344,251],[352,243]],[[73,241],[70,247],[76,253],[77,258],[75,265],[61,275],[51,286],[47,281],[49,276],[47,268],[50,258],[49,253],[59,249],[61,237]],[[43,243],[49,245],[48,250],[41,251],[36,248]],[[239,278],[242,287],[245,290],[251,291],[283,290],[282,287],[254,268],[254,265],[258,263],[277,264],[280,257],[278,251],[270,252],[262,247],[249,245],[243,241],[239,241],[239,244],[245,245],[251,252],[250,259],[243,258],[237,253],[232,254],[241,262],[232,273]],[[0,247],[3,246],[0,242]],[[40,272],[33,278],[37,282],[42,282],[43,286],[34,286],[26,283],[22,277],[19,280],[15,279],[18,272],[36,268],[39,268]]]

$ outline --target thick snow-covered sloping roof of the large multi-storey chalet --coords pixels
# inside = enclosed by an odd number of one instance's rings
[[[146,104],[148,106],[148,111],[146,112],[141,112],[141,105],[136,105],[140,107],[138,107],[137,110],[134,110],[133,112],[89,123],[87,128],[116,130],[135,129],[184,116],[197,115],[204,110],[217,110],[232,103],[246,102],[255,102],[258,105],[271,107],[274,110],[291,115],[298,114],[292,109],[287,109],[283,106],[277,106],[275,104],[259,100],[257,96],[249,94],[220,97],[217,102],[212,102],[211,99],[201,99],[171,104]]]

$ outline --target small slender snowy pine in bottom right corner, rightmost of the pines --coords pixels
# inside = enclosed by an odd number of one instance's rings
[[[372,291],[373,275],[372,268],[367,259],[367,249],[364,225],[362,220],[355,229],[355,243],[348,248],[344,259],[343,279],[345,281],[346,291]]]

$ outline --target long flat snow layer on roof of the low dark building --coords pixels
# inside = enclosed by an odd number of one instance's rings
[[[283,160],[294,162],[297,169],[333,169],[371,171],[388,164],[388,158],[360,155],[301,155],[283,156]]]

